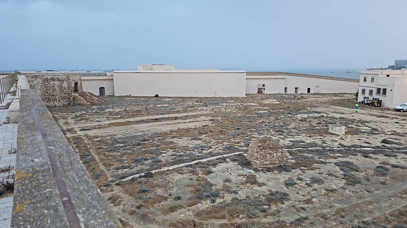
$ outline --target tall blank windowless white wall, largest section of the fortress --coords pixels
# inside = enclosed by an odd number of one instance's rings
[[[126,71],[113,72],[116,96],[245,96],[244,71]]]

